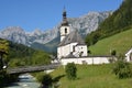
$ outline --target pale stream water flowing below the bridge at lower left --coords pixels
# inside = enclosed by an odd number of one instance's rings
[[[30,74],[23,74],[19,76],[18,82],[13,82],[9,87],[6,88],[38,88],[40,84],[36,81],[36,79],[31,76]]]

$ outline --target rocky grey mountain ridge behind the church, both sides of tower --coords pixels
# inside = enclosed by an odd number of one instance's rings
[[[89,12],[79,18],[68,18],[68,22],[70,24],[72,30],[78,30],[81,36],[86,36],[88,33],[95,31],[99,26],[99,24],[111,13],[111,11]],[[0,37],[32,47],[34,43],[43,45],[48,44],[50,42],[58,38],[59,26],[61,23],[58,23],[52,30],[41,31],[36,29],[30,33],[25,32],[20,26],[9,26],[0,32]]]

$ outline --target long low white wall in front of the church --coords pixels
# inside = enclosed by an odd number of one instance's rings
[[[67,65],[68,63],[75,64],[109,64],[110,57],[81,57],[81,58],[62,58],[62,65]]]

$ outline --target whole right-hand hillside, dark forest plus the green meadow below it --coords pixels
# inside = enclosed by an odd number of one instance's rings
[[[132,48],[132,0],[124,0],[112,15],[107,18],[86,37],[92,55],[110,55],[116,51],[124,55]]]

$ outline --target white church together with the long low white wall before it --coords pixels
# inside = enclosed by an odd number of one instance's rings
[[[66,10],[63,11],[63,22],[59,28],[61,43],[57,47],[57,61],[62,65],[75,64],[109,64],[111,56],[88,56],[88,48],[78,31],[70,28]]]

